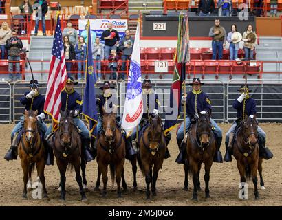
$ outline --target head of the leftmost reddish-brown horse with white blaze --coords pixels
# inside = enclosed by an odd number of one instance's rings
[[[34,144],[32,140],[36,136],[36,133],[38,132],[37,118],[36,118],[37,113],[38,113],[37,110],[36,111],[25,110],[23,129],[25,134],[25,140],[30,144]]]

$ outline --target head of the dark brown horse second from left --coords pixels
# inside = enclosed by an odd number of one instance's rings
[[[60,111],[61,120],[59,124],[59,133],[61,137],[61,146],[65,148],[65,151],[69,150],[72,144],[72,130],[74,129],[74,113],[69,111]]]

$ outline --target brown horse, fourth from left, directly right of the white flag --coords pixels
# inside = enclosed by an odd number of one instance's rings
[[[152,195],[157,195],[155,184],[166,153],[164,129],[162,127],[162,119],[159,116],[149,118],[149,126],[144,129],[144,133],[140,136],[139,148],[138,164],[145,176],[147,199],[150,199],[150,184]]]

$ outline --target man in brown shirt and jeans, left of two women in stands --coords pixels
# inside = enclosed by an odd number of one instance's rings
[[[208,36],[213,37],[212,47],[213,47],[213,60],[218,58],[222,59],[223,50],[226,43],[226,31],[224,27],[220,25],[219,19],[215,19],[215,26],[210,28]]]

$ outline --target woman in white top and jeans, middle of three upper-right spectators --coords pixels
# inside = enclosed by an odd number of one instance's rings
[[[239,42],[242,40],[241,33],[237,32],[237,26],[233,24],[231,26],[231,32],[227,35],[227,41],[229,44],[230,60],[234,61],[238,58]]]

